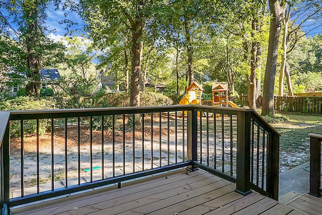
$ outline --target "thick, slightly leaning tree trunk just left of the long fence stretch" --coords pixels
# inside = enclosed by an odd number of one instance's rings
[[[283,4],[283,2],[280,3],[277,0],[269,0],[272,17],[264,77],[262,116],[274,116],[274,84],[278,56],[278,41],[284,14]]]

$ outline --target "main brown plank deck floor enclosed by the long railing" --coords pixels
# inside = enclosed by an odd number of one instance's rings
[[[258,193],[234,192],[235,184],[203,170],[181,169],[36,205],[13,214],[303,214]],[[320,210],[322,211],[322,210]]]

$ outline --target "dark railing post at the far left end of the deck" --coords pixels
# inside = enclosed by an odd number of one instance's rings
[[[3,206],[4,206],[4,213],[8,212],[10,214],[10,209],[7,207],[10,204],[10,172],[9,172],[9,163],[10,163],[10,123],[8,122],[6,127],[6,132],[4,136],[4,140],[2,143],[2,191],[3,191]]]

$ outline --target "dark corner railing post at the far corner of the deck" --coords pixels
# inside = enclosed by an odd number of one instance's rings
[[[197,168],[194,162],[197,161],[197,141],[198,141],[198,117],[197,111],[187,111],[187,160],[190,160],[191,165],[187,167],[190,171],[195,171]]]

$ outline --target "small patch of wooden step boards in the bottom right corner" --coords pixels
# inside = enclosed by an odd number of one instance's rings
[[[297,192],[289,192],[280,201],[307,214],[322,214],[322,197],[317,198],[307,193],[302,195]]]

